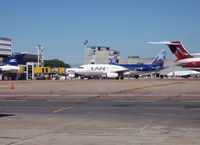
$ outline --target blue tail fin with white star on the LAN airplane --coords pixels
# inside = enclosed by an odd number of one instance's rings
[[[166,53],[167,51],[165,49],[162,49],[157,56],[155,57],[155,59],[152,61],[152,65],[154,66],[163,66],[164,62],[165,62],[165,58],[166,58]]]

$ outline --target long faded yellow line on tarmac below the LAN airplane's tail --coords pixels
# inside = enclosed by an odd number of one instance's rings
[[[183,82],[181,82],[181,83],[183,83]],[[168,84],[155,84],[155,85],[151,85],[151,86],[142,86],[142,87],[138,87],[138,88],[121,90],[120,92],[128,93],[128,92],[141,90],[141,89],[146,89],[146,88],[161,87],[161,86],[168,86],[168,85],[175,85],[175,84],[180,84],[180,82],[172,82],[172,83],[168,83]]]

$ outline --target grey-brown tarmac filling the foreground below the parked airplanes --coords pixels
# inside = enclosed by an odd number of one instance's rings
[[[0,81],[0,145],[199,145],[199,85],[198,78]]]

